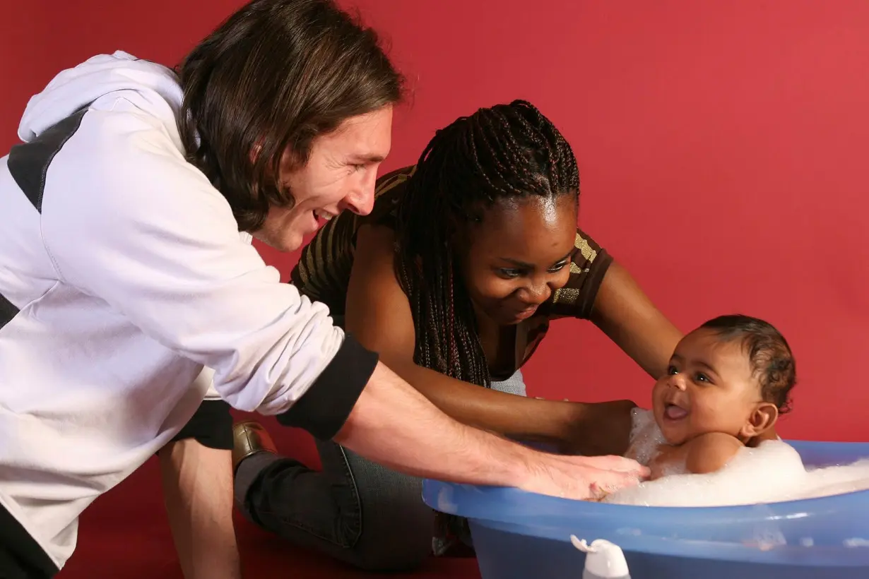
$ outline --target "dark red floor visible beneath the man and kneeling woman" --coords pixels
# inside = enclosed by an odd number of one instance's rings
[[[307,438],[263,420],[282,451],[313,460]],[[295,549],[245,521],[236,513],[236,534],[246,577],[297,579],[322,577],[369,577],[375,574],[349,569],[325,557]],[[390,577],[454,577],[479,579],[474,559],[432,558],[414,574]],[[59,579],[182,579],[163,508],[163,491],[154,460],[149,461],[116,489],[85,511],[79,528],[78,547]]]

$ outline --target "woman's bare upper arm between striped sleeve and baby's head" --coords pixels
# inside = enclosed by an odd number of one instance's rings
[[[673,350],[682,339],[682,332],[617,261],[600,282],[591,320],[655,379],[667,372]]]

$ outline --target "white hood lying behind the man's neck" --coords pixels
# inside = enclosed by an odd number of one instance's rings
[[[102,96],[122,91],[123,95],[118,97],[123,96],[144,112],[175,125],[183,97],[176,74],[161,64],[139,60],[118,50],[111,55],[93,56],[51,79],[27,103],[18,125],[18,138],[32,141],[76,110]]]

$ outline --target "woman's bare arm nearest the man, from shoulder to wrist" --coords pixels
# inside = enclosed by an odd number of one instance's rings
[[[363,226],[348,287],[345,327],[384,364],[463,424],[510,438],[561,443],[587,405],[524,398],[481,388],[414,363],[416,334],[410,305],[395,278],[395,234]]]

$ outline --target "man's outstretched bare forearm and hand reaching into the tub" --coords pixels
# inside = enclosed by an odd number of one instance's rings
[[[512,486],[554,497],[598,498],[648,475],[628,458],[559,457],[461,424],[381,362],[334,440],[414,477]]]

